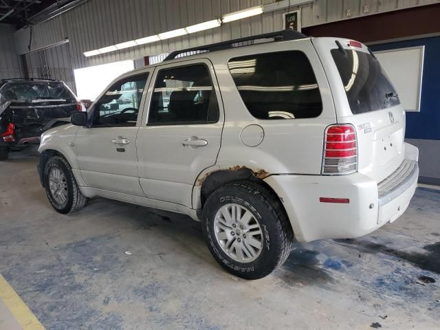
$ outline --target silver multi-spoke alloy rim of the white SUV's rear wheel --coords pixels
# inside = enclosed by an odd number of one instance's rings
[[[215,214],[214,233],[223,252],[234,261],[250,263],[263,250],[263,230],[254,214],[236,203],[225,204]]]

